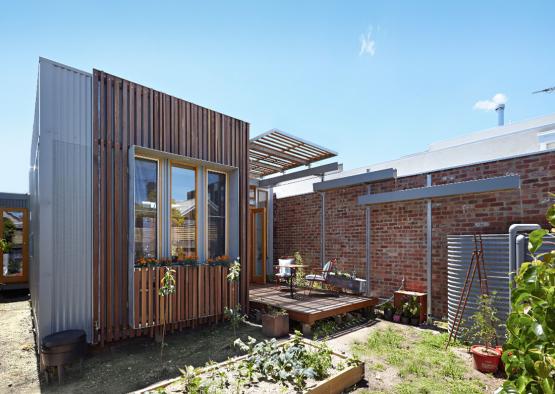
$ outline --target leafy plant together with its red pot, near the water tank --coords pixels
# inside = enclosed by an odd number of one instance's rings
[[[502,352],[494,345],[497,337],[496,327],[499,325],[497,309],[493,305],[493,297],[483,294],[478,299],[478,310],[471,316],[473,321],[470,332],[478,341],[470,347],[474,358],[474,367],[485,373],[497,372]]]

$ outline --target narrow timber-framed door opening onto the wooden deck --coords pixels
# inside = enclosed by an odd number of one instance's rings
[[[266,283],[266,208],[250,209],[252,236],[250,242],[251,253],[251,281]]]

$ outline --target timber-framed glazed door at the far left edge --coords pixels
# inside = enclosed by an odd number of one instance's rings
[[[29,213],[24,208],[0,208],[0,216],[0,283],[25,283],[29,278]]]

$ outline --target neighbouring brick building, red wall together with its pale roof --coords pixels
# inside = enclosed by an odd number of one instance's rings
[[[549,192],[555,189],[555,152],[550,145],[554,129],[555,116],[496,127],[432,145],[398,161],[328,177],[348,179],[392,168],[396,170],[392,179],[323,192],[306,193],[307,184],[317,180],[278,187],[274,256],[298,250],[315,267],[323,259],[337,257],[342,271],[356,271],[360,277],[369,272],[373,296],[389,297],[403,279],[406,288],[426,291],[430,225],[431,312],[443,317],[447,313],[447,235],[507,233],[514,223],[545,224]],[[507,176],[518,179],[518,186],[371,206],[358,201],[368,194]]]

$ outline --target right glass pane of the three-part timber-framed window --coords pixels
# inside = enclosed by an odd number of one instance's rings
[[[225,255],[226,175],[208,171],[208,258]]]

